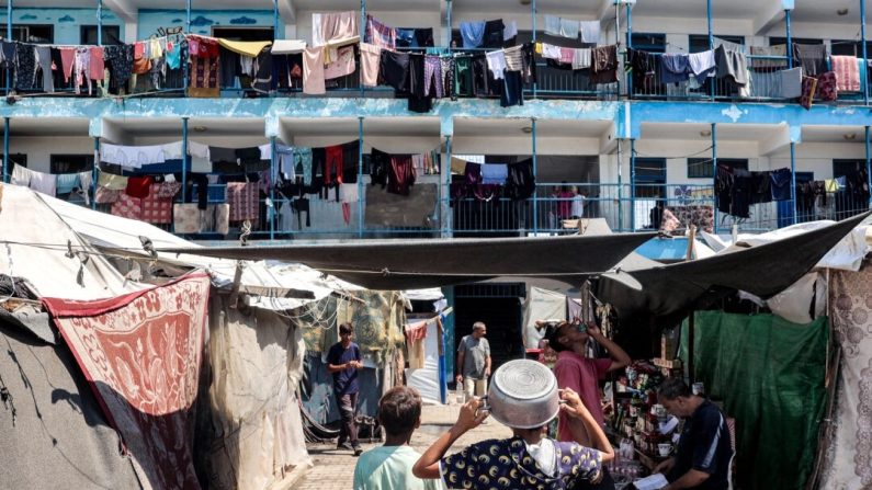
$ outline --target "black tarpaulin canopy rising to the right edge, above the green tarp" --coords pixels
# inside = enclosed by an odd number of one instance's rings
[[[706,293],[740,289],[763,299],[799,281],[870,213],[734,252],[671,265],[619,267],[602,274],[593,294],[621,318],[683,315]]]

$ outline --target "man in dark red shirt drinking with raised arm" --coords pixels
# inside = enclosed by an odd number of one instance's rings
[[[605,347],[611,358],[587,357],[588,340],[593,339]],[[562,322],[548,335],[548,345],[557,351],[557,363],[554,365],[554,375],[557,377],[558,388],[570,388],[579,395],[585,407],[593,415],[600,426],[604,422],[602,404],[600,403],[600,381],[605,379],[609,372],[621,369],[630,365],[631,358],[616,343],[607,339],[596,323],[580,324]],[[587,433],[579,433],[584,428],[569,423],[560,413],[557,423],[558,441],[579,441],[584,445],[590,444]],[[579,488],[614,488],[610,476],[603,475],[603,481],[597,486]]]

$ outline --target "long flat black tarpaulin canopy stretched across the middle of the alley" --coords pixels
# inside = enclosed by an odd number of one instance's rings
[[[579,285],[609,271],[654,233],[366,240],[279,247],[160,249],[236,260],[298,262],[370,289],[422,289],[497,276],[545,277]]]

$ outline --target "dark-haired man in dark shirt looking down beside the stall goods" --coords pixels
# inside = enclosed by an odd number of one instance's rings
[[[654,469],[664,472],[669,480],[665,488],[726,490],[733,458],[726,417],[714,403],[693,395],[679,378],[665,380],[657,395],[669,413],[688,419],[676,456]]]

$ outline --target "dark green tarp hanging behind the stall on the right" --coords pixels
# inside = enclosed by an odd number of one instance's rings
[[[828,335],[826,318],[796,324],[773,315],[695,314],[695,380],[736,419],[740,488],[805,486],[826,404]]]

